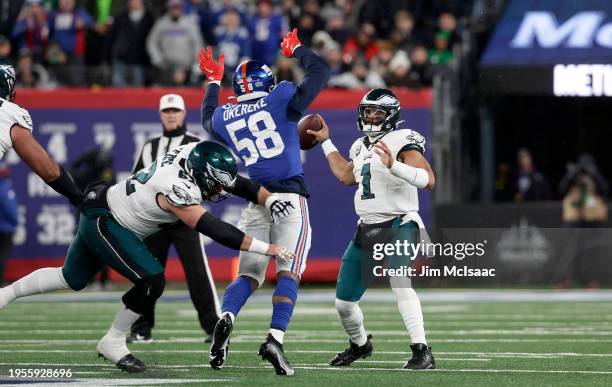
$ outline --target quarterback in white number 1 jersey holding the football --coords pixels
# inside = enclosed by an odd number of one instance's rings
[[[397,129],[400,103],[390,90],[373,89],[359,104],[358,128],[365,135],[351,146],[348,161],[329,139],[323,122],[319,132],[309,131],[322,143],[333,174],[342,183],[358,185],[355,211],[359,224],[342,257],[336,286],[336,310],[348,334],[349,347],[331,360],[332,366],[348,366],[372,354],[371,335],[366,335],[359,300],[373,279],[373,248],[376,243],[420,241],[424,226],[419,217],[418,188],[433,189],[435,177],[423,156],[425,139],[410,129]],[[410,265],[410,256],[387,256],[387,266]],[[398,266],[399,267],[399,266]],[[410,278],[391,277],[399,311],[410,334],[412,358],[405,369],[436,366],[427,346],[423,313]]]

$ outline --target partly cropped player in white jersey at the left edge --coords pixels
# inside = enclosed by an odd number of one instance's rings
[[[32,135],[32,118],[15,100],[15,69],[0,58],[0,159],[11,148],[51,188],[66,196],[74,205],[83,197],[72,177],[49,157]]]

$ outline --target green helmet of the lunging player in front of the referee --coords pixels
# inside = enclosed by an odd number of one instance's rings
[[[212,141],[199,142],[189,153],[187,169],[202,191],[202,198],[220,201],[229,196],[225,191],[236,182],[238,166],[232,153]]]

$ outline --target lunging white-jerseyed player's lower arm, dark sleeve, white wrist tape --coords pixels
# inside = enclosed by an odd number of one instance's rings
[[[176,207],[162,194],[157,195],[157,203],[162,209],[174,213],[187,226],[230,249],[276,256],[282,260],[293,259],[293,253],[286,247],[262,242],[246,235],[235,226],[214,217],[202,206]]]

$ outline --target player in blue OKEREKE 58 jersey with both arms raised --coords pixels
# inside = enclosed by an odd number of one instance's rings
[[[302,46],[295,29],[281,42],[281,54],[298,58],[304,67],[305,76],[299,85],[277,84],[267,65],[248,60],[239,64],[232,76],[238,103],[218,106],[224,58],[221,55],[215,62],[210,48],[202,49],[200,69],[209,81],[202,104],[202,125],[244,161],[251,179],[283,198],[283,204],[278,205],[299,209],[275,223],[264,207],[249,205],[239,223],[242,230],[256,238],[294,250],[293,261],[276,262],[270,332],[259,349],[259,355],[274,366],[278,375],[293,375],[283,352],[283,336],[293,314],[311,242],[306,203],[309,195],[300,159],[297,122],[327,83],[329,67]],[[261,254],[240,254],[238,278],[225,290],[223,313],[213,334],[209,354],[212,368],[223,367],[234,319],[249,296],[262,285],[268,262],[268,257]]]

